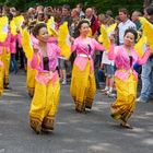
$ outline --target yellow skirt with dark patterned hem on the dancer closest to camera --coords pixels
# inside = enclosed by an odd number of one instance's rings
[[[59,79],[52,85],[44,85],[36,81],[35,93],[32,99],[30,120],[31,127],[39,132],[42,128],[54,130],[54,121],[59,104]]]

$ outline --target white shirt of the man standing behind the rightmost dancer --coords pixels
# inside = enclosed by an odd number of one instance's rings
[[[133,22],[131,22],[130,20],[127,20],[126,22],[120,22],[119,23],[119,25],[118,25],[119,44],[123,44],[123,35],[125,35],[126,30],[128,30],[128,28],[137,30],[136,24]]]

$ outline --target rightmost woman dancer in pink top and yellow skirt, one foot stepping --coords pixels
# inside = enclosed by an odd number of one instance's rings
[[[129,28],[125,32],[123,45],[111,45],[108,58],[116,63],[115,83],[117,89],[117,99],[110,106],[111,117],[120,119],[121,127],[131,128],[127,122],[136,108],[138,75],[133,70],[134,63],[143,64],[150,56],[150,48],[142,58],[133,49],[137,39],[137,32]]]

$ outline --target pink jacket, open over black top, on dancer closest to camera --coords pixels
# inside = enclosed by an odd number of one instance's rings
[[[31,67],[32,69],[36,69],[38,71],[35,78],[37,82],[47,85],[50,80],[52,80],[52,83],[57,81],[58,72],[56,71],[56,68],[57,68],[57,60],[59,55],[60,55],[60,48],[55,44],[47,43],[49,71],[46,71],[44,70],[43,55],[40,50],[37,54],[34,54],[33,59],[31,61]]]

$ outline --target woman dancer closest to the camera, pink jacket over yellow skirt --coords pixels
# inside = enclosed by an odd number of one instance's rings
[[[48,32],[44,23],[33,28],[33,35],[38,39],[38,45],[34,46],[31,67],[37,70],[37,74],[30,119],[31,127],[39,133],[42,130],[54,130],[55,115],[59,104],[60,84],[56,68],[60,48],[48,43]]]

